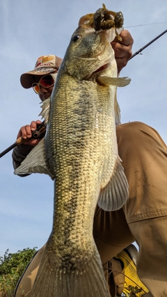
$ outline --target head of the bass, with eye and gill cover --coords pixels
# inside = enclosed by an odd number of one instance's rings
[[[76,79],[90,79],[95,73],[111,66],[115,54],[111,41],[115,29],[95,31],[93,26],[82,23],[72,34],[61,67]],[[113,63],[116,67],[116,63]]]

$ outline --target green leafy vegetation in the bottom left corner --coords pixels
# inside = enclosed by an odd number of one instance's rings
[[[6,250],[0,257],[0,297],[13,297],[17,281],[35,254],[37,247],[24,248],[11,254]]]

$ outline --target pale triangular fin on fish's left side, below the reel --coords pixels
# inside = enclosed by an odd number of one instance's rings
[[[51,179],[54,179],[45,161],[45,138],[33,147],[33,150],[26,156],[26,159],[22,161],[21,165],[15,169],[15,175],[24,175],[29,173],[45,173],[49,175]]]

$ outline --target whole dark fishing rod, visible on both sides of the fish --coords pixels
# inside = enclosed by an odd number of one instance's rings
[[[159,34],[156,38],[152,39],[150,42],[147,43],[147,45],[144,45],[144,47],[141,47],[141,49],[138,49],[138,51],[136,51],[136,53],[134,53],[132,55],[132,57],[129,58],[129,60],[134,58],[136,55],[140,54],[141,51],[143,51],[143,49],[146,49],[146,47],[149,47],[149,45],[151,45],[155,40],[159,39],[166,32],[167,32],[167,30],[165,30],[164,32]],[[45,136],[45,133],[46,133],[46,125],[44,124],[44,122],[42,122],[42,124],[38,125],[38,128],[32,132],[31,138],[35,138],[35,139],[42,138]],[[31,138],[29,138],[29,139],[31,139]],[[8,152],[10,152],[10,150],[13,150],[14,147],[16,147],[17,145],[21,145],[25,141],[27,141],[27,139],[22,138],[22,136],[17,138],[17,141],[15,141],[15,143],[13,143],[13,145],[10,145],[10,147],[7,147],[6,150],[3,150],[3,152],[1,152],[0,158],[2,156],[4,156],[5,154],[7,154]]]

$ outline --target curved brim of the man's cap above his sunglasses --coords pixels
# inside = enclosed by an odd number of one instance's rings
[[[43,76],[45,74],[49,74],[49,73],[53,73],[53,72],[56,72],[56,68],[47,68],[47,67],[42,67],[42,68],[39,68],[39,69],[34,69],[32,71],[29,71],[29,72],[26,72],[26,73],[23,73],[20,77],[20,83],[22,85],[23,88],[31,88],[32,86],[32,83],[35,82],[34,80],[34,76]],[[58,71],[58,70],[57,70]]]

